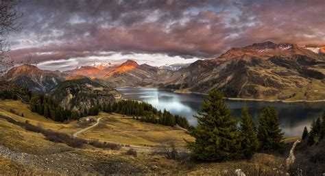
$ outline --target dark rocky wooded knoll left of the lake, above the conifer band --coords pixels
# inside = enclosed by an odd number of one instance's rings
[[[56,99],[62,108],[86,113],[95,105],[105,105],[121,99],[121,95],[113,88],[84,77],[62,82],[51,96]]]

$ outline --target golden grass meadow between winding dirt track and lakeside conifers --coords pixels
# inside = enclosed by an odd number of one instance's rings
[[[118,114],[100,113],[100,116],[103,118],[99,125],[80,134],[80,137],[140,146],[156,146],[165,140],[174,140],[178,147],[184,147],[184,139],[193,140],[184,131],[174,127],[142,123]]]

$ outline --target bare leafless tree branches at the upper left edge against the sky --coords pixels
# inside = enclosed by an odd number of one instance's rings
[[[18,19],[23,14],[19,12],[18,3],[19,0],[0,0],[0,75],[14,64],[7,55],[10,51],[7,36],[20,28]]]

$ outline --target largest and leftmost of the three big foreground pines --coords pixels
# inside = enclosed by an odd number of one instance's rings
[[[224,97],[218,90],[209,93],[202,103],[197,128],[189,129],[195,142],[186,141],[191,157],[201,161],[224,161],[239,158],[239,131]]]

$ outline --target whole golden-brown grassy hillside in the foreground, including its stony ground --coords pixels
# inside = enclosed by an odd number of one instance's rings
[[[10,112],[10,109],[15,113]],[[22,117],[21,114],[24,116]],[[70,136],[94,123],[56,123],[29,111],[20,101],[0,101],[0,115],[15,121],[29,121],[43,129],[60,131]],[[166,140],[176,142],[184,149],[184,140],[193,140],[182,129],[141,123],[119,114],[100,113],[99,125],[84,131],[78,137],[98,139],[101,142],[119,142],[138,146],[150,146],[152,151],[137,151],[136,157],[126,155],[127,149],[113,151],[90,145],[73,148],[67,144],[51,142],[43,134],[27,131],[0,118],[0,175],[69,175],[69,174],[181,174],[181,175],[233,175],[241,168],[246,175],[272,173],[281,169],[285,157],[256,154],[252,160],[221,163],[195,163],[185,155],[180,160],[169,160],[155,153],[156,147]],[[290,142],[293,139],[290,139]],[[10,153],[10,155],[8,155]],[[247,174],[250,172],[251,174]]]

